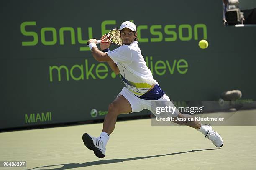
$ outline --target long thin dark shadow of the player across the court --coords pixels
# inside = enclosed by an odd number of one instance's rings
[[[48,165],[48,166],[42,166],[42,167],[34,167],[32,169],[26,169],[26,170],[40,170],[40,168],[48,168],[49,169],[51,167],[53,167],[53,168],[50,170],[66,170],[66,169],[79,168],[79,167],[89,167],[89,166],[93,166],[93,165],[119,163],[119,162],[130,161],[130,160],[139,160],[139,159],[147,159],[147,158],[152,158],[152,157],[161,157],[161,156],[177,155],[177,154],[189,153],[189,152],[198,152],[198,151],[205,151],[205,150],[218,150],[218,149],[220,149],[220,148],[204,149],[204,150],[191,150],[191,151],[186,151],[186,152],[176,152],[176,153],[169,153],[169,154],[164,154],[164,155],[154,155],[154,156],[145,156],[145,157],[132,157],[132,158],[126,158],[126,159],[97,160],[97,161],[85,162],[85,163],[67,163],[67,164],[59,164],[59,165]],[[60,166],[60,165],[63,165],[63,166],[54,168],[55,166]]]

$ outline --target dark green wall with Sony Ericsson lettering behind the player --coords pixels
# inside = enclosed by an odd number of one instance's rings
[[[85,43],[125,20],[137,25],[142,54],[170,99],[218,100],[232,89],[256,99],[256,27],[224,27],[221,0],[111,2],[1,5],[0,129],[103,119],[124,84]],[[140,114],[149,112],[123,116]]]

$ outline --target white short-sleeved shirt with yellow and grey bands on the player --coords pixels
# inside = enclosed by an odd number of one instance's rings
[[[117,64],[125,86],[136,96],[145,94],[153,84],[158,84],[141,55],[137,41],[107,54]]]

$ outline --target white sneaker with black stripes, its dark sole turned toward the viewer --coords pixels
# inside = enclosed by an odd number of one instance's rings
[[[94,151],[94,155],[98,158],[105,157],[106,148],[103,145],[102,140],[98,137],[90,136],[89,134],[83,134],[84,145],[89,149]]]

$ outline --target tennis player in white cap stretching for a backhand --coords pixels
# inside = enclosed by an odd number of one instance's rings
[[[151,101],[170,101],[169,97],[160,88],[158,82],[153,79],[150,69],[141,54],[137,41],[136,25],[125,21],[120,26],[120,36],[123,45],[113,51],[109,50],[109,43],[100,43],[100,51],[96,46],[96,39],[89,40],[92,56],[97,61],[107,61],[115,74],[121,74],[126,87],[123,87],[116,99],[109,104],[108,114],[105,116],[102,133],[99,137],[93,137],[85,133],[82,137],[84,144],[94,154],[105,157],[106,145],[110,134],[115,129],[117,116],[123,113],[140,112],[143,109],[151,110]],[[101,40],[107,40],[106,35]],[[154,111],[151,111],[154,113]],[[187,117],[179,112],[174,112],[172,117]],[[223,140],[217,132],[208,124],[198,121],[173,121],[197,129],[212,141],[216,147],[223,146]]]

